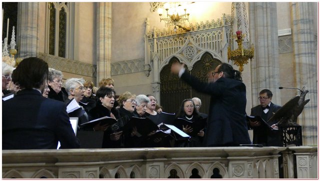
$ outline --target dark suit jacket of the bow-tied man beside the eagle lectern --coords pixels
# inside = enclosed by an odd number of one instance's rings
[[[281,106],[270,103],[269,111],[267,112],[267,120],[269,120],[272,115],[281,108]],[[261,116],[262,106],[258,105],[251,108],[251,116]],[[264,120],[267,122],[267,120]],[[277,120],[273,122],[267,122],[268,125],[273,125]],[[249,124],[248,124],[249,125]],[[263,124],[258,127],[253,127],[253,144],[262,144],[264,146],[281,146],[281,138],[278,130],[269,130]]]

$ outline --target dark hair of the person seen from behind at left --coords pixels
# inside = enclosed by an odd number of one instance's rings
[[[49,74],[48,64],[40,58],[23,59],[12,72],[12,82],[21,89],[40,88]]]

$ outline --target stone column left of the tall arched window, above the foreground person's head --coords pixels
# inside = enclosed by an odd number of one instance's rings
[[[18,2],[16,57],[37,56],[38,8],[39,2]]]

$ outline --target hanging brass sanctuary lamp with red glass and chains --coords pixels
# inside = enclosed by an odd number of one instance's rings
[[[235,34],[233,34],[233,29],[236,29]],[[235,39],[237,43],[236,48],[233,39]],[[253,44],[250,43],[248,37],[244,2],[232,2],[231,29],[227,55],[228,59],[239,67],[240,72],[243,71],[243,66],[247,64],[248,60],[252,59],[254,55]]]

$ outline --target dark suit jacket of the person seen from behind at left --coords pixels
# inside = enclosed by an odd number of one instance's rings
[[[2,149],[79,148],[63,102],[24,89],[2,102]]]

